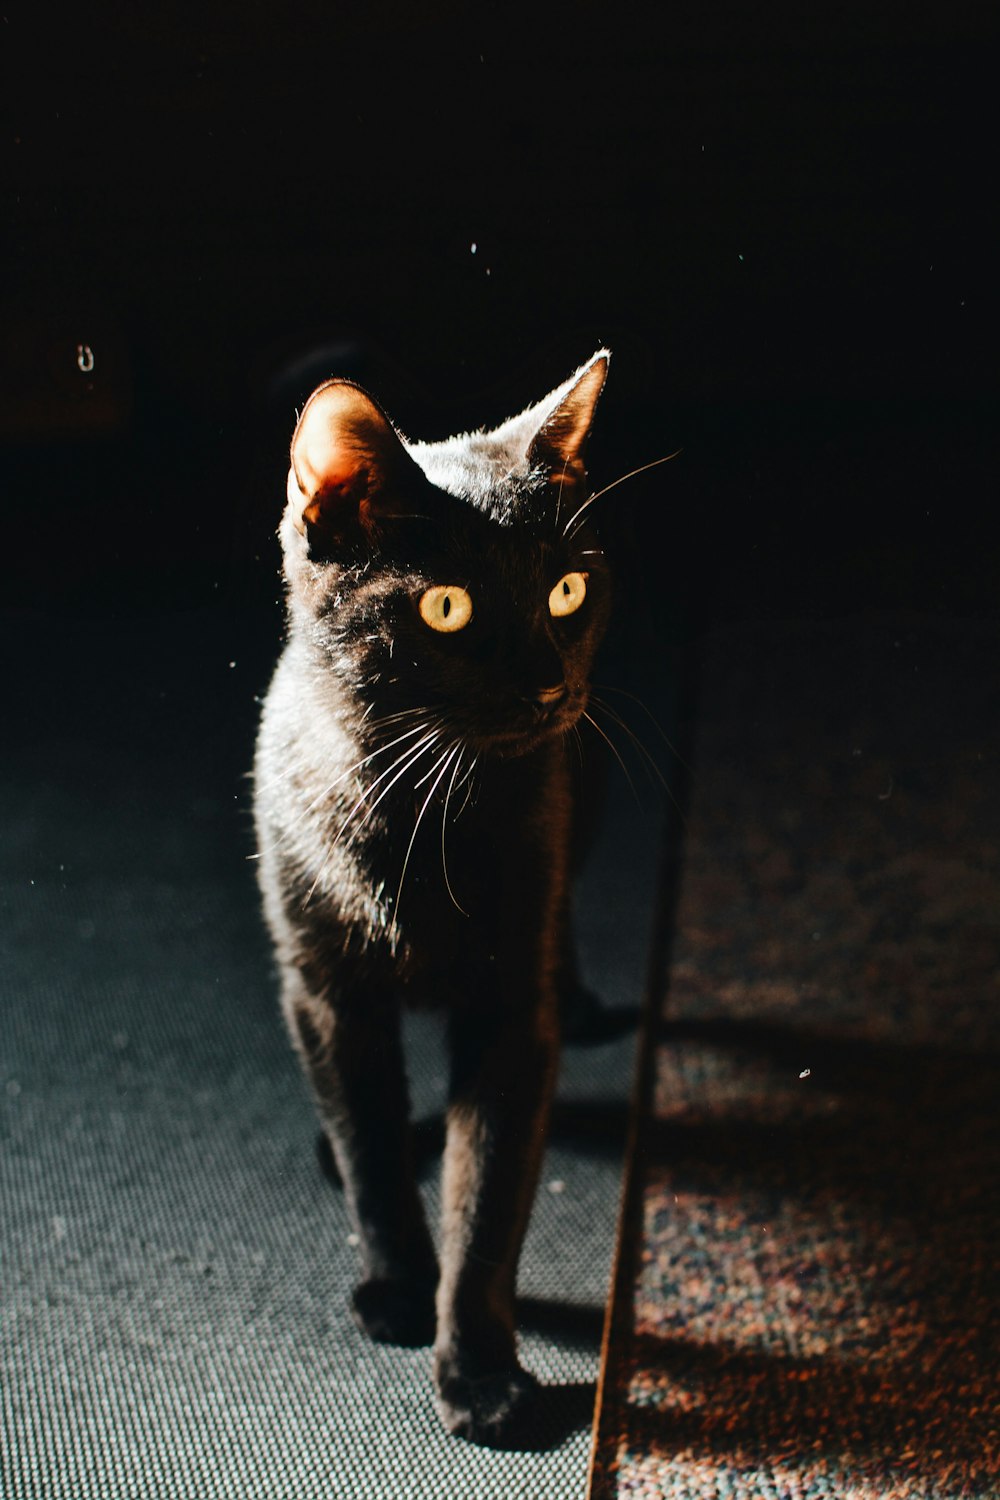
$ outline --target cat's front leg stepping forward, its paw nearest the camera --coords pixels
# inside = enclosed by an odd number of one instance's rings
[[[517,1442],[537,1382],[514,1334],[517,1258],[544,1149],[558,1056],[555,990],[453,1018],[435,1386],[450,1432]]]

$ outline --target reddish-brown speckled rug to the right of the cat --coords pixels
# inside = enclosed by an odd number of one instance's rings
[[[999,1000],[1000,630],[714,638],[595,1500],[1000,1494]]]

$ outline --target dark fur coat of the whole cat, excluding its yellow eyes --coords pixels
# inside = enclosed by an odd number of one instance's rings
[[[535,1388],[514,1282],[576,987],[571,730],[610,594],[583,447],[607,358],[432,444],[352,382],[321,386],[280,525],[288,644],[255,807],[283,1011],[360,1236],[355,1317],[433,1340],[445,1426],[484,1443],[516,1437]],[[583,604],[553,616],[576,573]],[[465,628],[424,622],[433,585],[468,591]],[[451,1046],[439,1266],[399,1040],[415,994],[447,1008]]]

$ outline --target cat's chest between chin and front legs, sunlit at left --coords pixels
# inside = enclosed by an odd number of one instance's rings
[[[552,926],[574,789],[561,741],[481,768],[447,741],[421,748],[421,728],[373,736],[289,650],[261,729],[258,831],[270,903],[324,940],[340,930],[409,999],[448,1004],[525,912]]]

